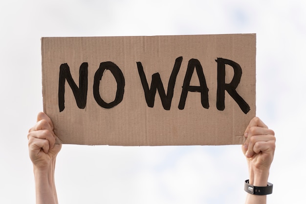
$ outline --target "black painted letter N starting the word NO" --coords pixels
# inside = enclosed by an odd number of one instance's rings
[[[79,87],[72,79],[70,69],[67,63],[61,64],[59,76],[59,108],[60,112],[65,109],[65,82],[67,80],[70,88],[72,89],[75,101],[79,108],[84,109],[87,101],[87,86],[88,86],[88,63],[84,62],[79,70]]]

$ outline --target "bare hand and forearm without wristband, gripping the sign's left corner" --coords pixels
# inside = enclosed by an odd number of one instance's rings
[[[29,130],[29,155],[33,163],[36,204],[58,204],[54,170],[56,155],[62,144],[56,144],[56,135],[50,118],[39,113],[37,123]]]

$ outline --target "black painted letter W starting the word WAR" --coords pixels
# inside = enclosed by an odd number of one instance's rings
[[[149,89],[149,84],[146,78],[146,75],[143,71],[143,67],[141,62],[136,62],[137,63],[137,68],[138,68],[138,73],[139,77],[143,86],[143,90],[145,92],[145,98],[146,102],[149,107],[154,106],[154,100],[155,100],[155,94],[156,94],[156,89],[158,90],[160,100],[162,102],[162,105],[165,110],[170,110],[171,107],[171,102],[174,94],[174,86],[175,86],[175,81],[176,81],[176,76],[178,74],[179,68],[181,66],[181,63],[183,61],[183,57],[178,57],[175,60],[175,64],[168,82],[168,89],[167,89],[167,95],[165,93],[165,89],[163,86],[163,83],[160,79],[159,73],[155,73],[152,75],[152,82],[151,82],[151,88]]]

